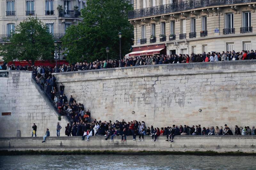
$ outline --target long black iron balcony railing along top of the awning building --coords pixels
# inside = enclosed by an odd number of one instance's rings
[[[173,2],[172,4],[165,4],[128,11],[128,19],[148,17],[170,12],[185,11],[202,7],[210,7],[213,5],[229,5],[256,2],[256,0],[187,0],[182,2]]]

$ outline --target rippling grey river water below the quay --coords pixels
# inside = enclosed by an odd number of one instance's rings
[[[0,156],[0,169],[256,169],[256,156],[20,155]]]

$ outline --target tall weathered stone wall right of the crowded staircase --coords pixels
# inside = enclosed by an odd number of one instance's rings
[[[146,65],[54,73],[98,121],[255,126],[256,61]],[[202,111],[199,112],[199,109]],[[134,114],[132,114],[134,111]]]

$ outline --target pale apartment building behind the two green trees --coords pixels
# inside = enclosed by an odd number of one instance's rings
[[[57,10],[59,5],[62,9]],[[49,33],[60,39],[70,25],[82,20],[80,10],[84,6],[86,0],[0,0],[0,41],[29,16],[39,18]]]

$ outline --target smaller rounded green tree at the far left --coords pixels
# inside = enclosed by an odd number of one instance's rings
[[[26,60],[34,64],[36,60],[53,58],[53,37],[38,18],[29,17],[15,27],[15,32],[12,33],[10,43],[0,45],[0,56],[3,56],[4,61]]]

